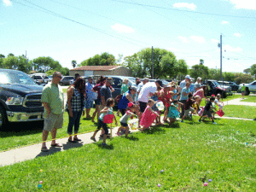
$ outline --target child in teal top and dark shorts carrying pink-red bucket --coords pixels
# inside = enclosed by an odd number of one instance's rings
[[[103,122],[103,118],[104,116],[108,113],[108,114],[113,114],[113,106],[114,106],[114,100],[113,98],[108,98],[107,100],[107,107],[106,108],[103,108],[101,110],[101,115],[98,119],[98,127],[96,129],[96,131],[94,132],[93,136],[90,137],[91,140],[93,140],[94,142],[96,142],[96,139],[95,139],[95,136],[96,136],[96,133],[98,131],[101,130],[101,128],[103,128],[104,130],[104,134],[103,134],[103,142],[102,142],[102,145],[103,146],[106,146],[107,143],[106,143],[106,139],[108,137],[108,125],[106,123]],[[117,124],[117,120],[115,118],[115,116],[113,115],[113,119],[115,120],[115,125],[118,125]]]

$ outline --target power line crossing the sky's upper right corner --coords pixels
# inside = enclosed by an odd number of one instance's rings
[[[235,18],[243,18],[243,19],[256,19],[256,17],[247,17],[247,16],[236,16],[236,15],[219,15],[219,14],[210,14],[210,13],[203,13],[198,11],[189,11],[189,10],[180,10],[180,9],[172,9],[172,8],[165,8],[155,5],[148,5],[148,4],[142,4],[142,3],[131,3],[131,2],[125,2],[125,1],[119,1],[119,0],[111,0],[113,2],[119,2],[119,3],[126,3],[126,4],[133,4],[143,7],[150,7],[150,8],[157,8],[157,9],[167,9],[167,10],[173,10],[173,11],[179,11],[179,12],[188,12],[193,14],[201,14],[201,15],[213,15],[213,16],[222,16],[222,17],[235,17]]]

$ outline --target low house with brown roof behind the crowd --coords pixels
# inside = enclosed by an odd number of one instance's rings
[[[123,66],[82,66],[70,69],[69,75],[74,76],[79,73],[80,76],[90,75],[120,75],[131,76],[131,70]]]

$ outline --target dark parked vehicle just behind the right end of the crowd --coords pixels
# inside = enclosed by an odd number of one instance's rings
[[[217,80],[207,79],[204,84],[207,85],[207,96],[216,96],[219,93],[223,98],[227,97],[227,90]]]

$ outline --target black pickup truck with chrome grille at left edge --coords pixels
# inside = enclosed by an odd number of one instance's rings
[[[8,122],[44,120],[43,88],[26,73],[0,69],[0,130]]]

